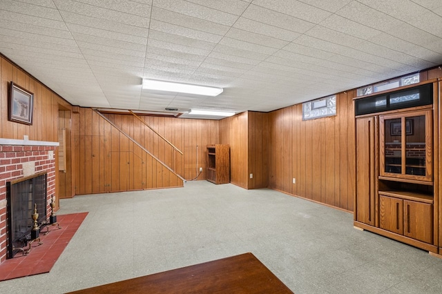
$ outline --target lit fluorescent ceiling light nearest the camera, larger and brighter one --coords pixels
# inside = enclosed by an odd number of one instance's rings
[[[222,88],[198,86],[191,84],[174,83],[172,81],[157,81],[155,79],[143,79],[143,89],[159,90],[167,92],[180,92],[195,95],[218,96]]]

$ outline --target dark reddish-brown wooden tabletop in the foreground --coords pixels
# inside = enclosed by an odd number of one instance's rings
[[[244,253],[70,293],[293,293],[255,255]]]

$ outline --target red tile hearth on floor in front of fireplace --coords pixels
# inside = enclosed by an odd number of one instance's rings
[[[17,253],[14,258],[6,259],[0,264],[0,281],[26,277],[39,273],[48,273],[70,242],[77,229],[88,213],[73,213],[70,215],[57,215],[57,226],[49,226],[48,235],[44,235],[46,227],[41,229],[40,239],[43,244],[31,244],[32,250],[23,256]]]

